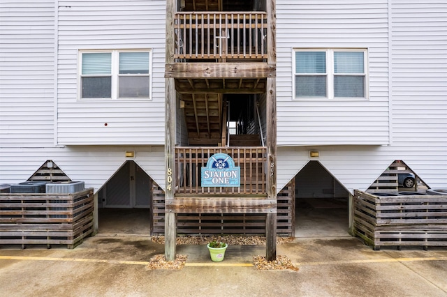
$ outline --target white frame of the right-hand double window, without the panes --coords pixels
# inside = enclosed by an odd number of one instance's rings
[[[299,74],[296,73],[295,66],[295,52],[325,52],[326,53],[326,73],[316,73],[315,75],[327,77],[326,81],[326,97],[296,97],[295,77]],[[349,73],[349,75],[363,75],[365,77],[365,90],[364,97],[335,97],[334,96],[334,52],[363,52],[363,70],[364,73]],[[293,48],[292,49],[292,87],[293,87],[293,100],[368,100],[369,99],[369,62],[368,62],[368,50],[365,48]],[[303,75],[312,75],[303,74]],[[343,74],[341,74],[343,75]]]

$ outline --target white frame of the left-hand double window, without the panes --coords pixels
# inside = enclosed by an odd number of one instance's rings
[[[119,74],[119,53],[121,52],[149,52],[149,73],[142,76],[149,76],[149,97],[148,98],[119,98],[119,77],[129,76],[126,74]],[[110,53],[111,54],[111,68],[112,68],[112,97],[111,98],[82,98],[82,54],[95,54],[95,53]],[[133,74],[131,76],[138,76]],[[152,50],[139,49],[139,50],[79,50],[78,51],[78,100],[100,100],[100,101],[147,101],[152,100]]]

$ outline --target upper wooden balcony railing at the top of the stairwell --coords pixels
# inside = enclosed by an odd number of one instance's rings
[[[267,59],[264,12],[175,14],[175,59]]]

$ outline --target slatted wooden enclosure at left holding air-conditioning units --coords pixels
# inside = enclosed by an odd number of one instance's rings
[[[0,245],[67,245],[93,233],[93,189],[71,194],[0,194]]]

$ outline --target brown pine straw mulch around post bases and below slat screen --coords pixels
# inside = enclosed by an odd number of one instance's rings
[[[164,244],[164,236],[152,236],[152,241]],[[228,245],[265,245],[265,236],[182,236],[177,237],[177,245],[203,245],[210,241],[222,241]],[[277,244],[291,242],[292,238],[277,237]],[[166,261],[164,254],[156,254],[149,260],[147,268],[154,269],[182,269],[188,256],[177,254],[174,261]],[[276,261],[267,261],[263,256],[253,257],[254,266],[258,270],[292,270],[298,271],[287,256],[277,256]]]

